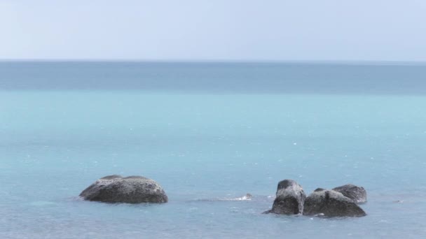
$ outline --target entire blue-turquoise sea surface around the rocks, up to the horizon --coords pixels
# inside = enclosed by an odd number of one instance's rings
[[[78,198],[111,174],[169,203]],[[0,62],[0,238],[426,238],[425,175],[426,64]],[[262,214],[284,179],[368,215]]]

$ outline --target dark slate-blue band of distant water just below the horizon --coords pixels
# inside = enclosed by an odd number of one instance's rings
[[[0,89],[426,94],[426,64],[15,61]]]

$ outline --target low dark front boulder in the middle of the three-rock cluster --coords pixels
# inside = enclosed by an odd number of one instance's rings
[[[305,200],[303,215],[324,217],[363,217],[362,208],[338,191],[316,189]]]

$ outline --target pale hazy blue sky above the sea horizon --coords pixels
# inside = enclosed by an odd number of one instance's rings
[[[425,0],[0,0],[1,59],[426,61]]]

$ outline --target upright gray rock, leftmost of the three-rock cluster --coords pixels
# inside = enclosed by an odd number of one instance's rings
[[[272,209],[265,213],[296,215],[303,212],[306,194],[301,185],[294,180],[282,180],[278,183],[277,197]]]

